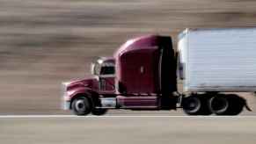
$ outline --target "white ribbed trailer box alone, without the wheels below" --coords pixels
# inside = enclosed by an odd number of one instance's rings
[[[256,91],[256,28],[179,34],[186,91]]]

